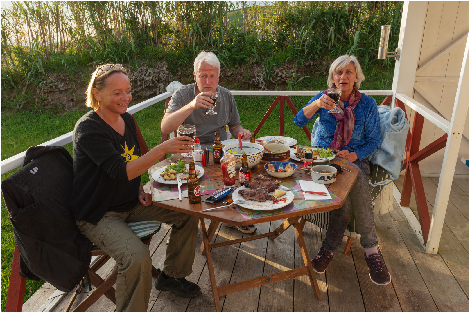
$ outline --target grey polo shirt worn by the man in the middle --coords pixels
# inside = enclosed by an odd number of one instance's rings
[[[173,92],[172,99],[168,103],[166,112],[176,112],[181,107],[188,105],[194,98],[196,83],[181,86]],[[240,115],[235,103],[235,98],[227,88],[217,85],[219,98],[214,111],[216,115],[205,114],[208,109],[198,108],[194,110],[184,121],[184,124],[196,126],[196,136],[201,140],[201,145],[214,143],[214,132],[219,131],[221,140],[227,138],[225,126],[234,127],[240,124]]]

